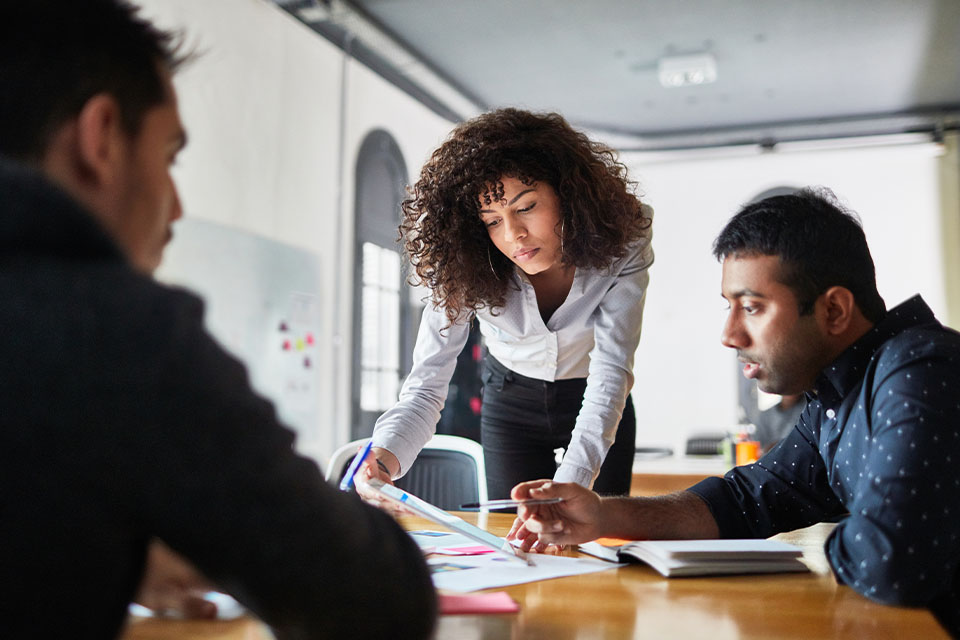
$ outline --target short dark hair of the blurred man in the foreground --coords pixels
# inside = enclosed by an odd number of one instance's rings
[[[135,135],[144,113],[167,99],[163,71],[188,57],[180,44],[125,0],[3,0],[0,154],[39,161],[54,132],[102,92]]]

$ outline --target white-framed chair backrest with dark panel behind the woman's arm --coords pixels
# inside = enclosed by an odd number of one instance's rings
[[[339,482],[364,440],[337,449],[327,465],[327,480]],[[397,486],[445,510],[487,499],[483,448],[459,436],[436,435],[426,444]]]

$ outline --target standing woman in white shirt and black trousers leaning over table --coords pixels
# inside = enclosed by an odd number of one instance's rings
[[[377,421],[368,476],[400,477],[432,437],[476,319],[490,497],[543,477],[629,493],[629,393],[653,252],[652,210],[626,174],[555,113],[492,111],[433,153],[400,227],[432,304],[400,399]]]

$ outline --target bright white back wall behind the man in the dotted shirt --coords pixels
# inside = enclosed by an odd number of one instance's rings
[[[956,180],[941,188],[941,174],[949,174],[942,167],[956,167],[956,145],[948,152],[912,136],[858,146],[864,142],[624,156],[656,211],[656,263],[633,391],[638,442],[681,447],[692,431],[736,423],[738,372],[733,352],[720,344],[726,303],[711,243],[766,189],[833,189],[860,214],[888,307],[919,292],[941,319],[960,320],[947,316],[948,298],[957,296],[945,278],[960,242],[942,241],[942,219],[960,215]]]

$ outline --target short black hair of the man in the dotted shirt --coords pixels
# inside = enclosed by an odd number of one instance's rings
[[[849,289],[871,322],[886,315],[860,219],[829,189],[801,189],[748,204],[717,236],[713,255],[779,257],[778,279],[793,290],[802,315],[833,286]]]

